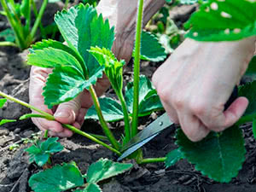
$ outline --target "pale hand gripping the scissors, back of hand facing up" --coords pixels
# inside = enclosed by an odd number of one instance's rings
[[[224,104],[247,69],[255,40],[201,43],[188,38],[154,73],[153,84],[166,112],[191,141],[224,131],[246,110],[245,97],[225,111]]]

